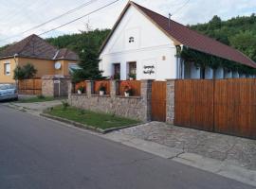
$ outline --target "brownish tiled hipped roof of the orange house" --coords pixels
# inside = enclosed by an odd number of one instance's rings
[[[58,60],[78,60],[78,56],[74,52],[67,49],[58,50],[55,46],[35,34],[10,45],[0,53],[0,59],[13,57],[14,54],[17,54],[18,57],[32,59],[55,60],[58,58]]]

